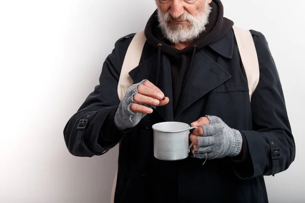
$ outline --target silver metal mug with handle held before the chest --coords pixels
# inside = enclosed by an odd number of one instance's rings
[[[154,156],[160,160],[181,160],[189,156],[191,127],[182,122],[162,122],[153,125]]]

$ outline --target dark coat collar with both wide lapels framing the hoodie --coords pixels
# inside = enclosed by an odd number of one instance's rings
[[[232,58],[234,35],[232,29],[227,35],[209,47],[225,58]],[[151,82],[156,80],[157,50],[146,43],[140,64],[129,72],[134,83],[147,79]],[[175,117],[187,110],[196,100],[207,94],[210,90],[227,81],[231,76],[216,61],[212,60],[202,50],[198,50],[194,57],[189,78],[182,89],[180,101],[173,114],[172,77],[169,58],[161,55],[161,70],[158,87],[170,98],[169,104],[157,107],[156,111],[165,121],[173,121]]]

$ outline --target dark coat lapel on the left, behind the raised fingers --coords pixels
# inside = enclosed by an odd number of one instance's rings
[[[145,56],[143,50],[144,58]],[[155,84],[157,76],[157,64],[158,57],[157,54],[150,56],[147,60],[143,60],[135,69],[129,72],[131,79],[134,83],[141,82],[144,79],[149,80]],[[158,87],[164,93],[165,96],[169,97],[169,104],[157,107],[156,111],[162,116],[165,121],[173,121],[173,103],[172,103],[172,79],[170,71],[170,62],[168,57],[161,55],[161,66],[160,66],[160,76]]]

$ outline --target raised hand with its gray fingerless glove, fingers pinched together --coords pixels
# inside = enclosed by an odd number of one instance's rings
[[[156,106],[164,106],[169,98],[148,80],[132,85],[121,100],[114,115],[114,123],[120,130],[136,126]]]

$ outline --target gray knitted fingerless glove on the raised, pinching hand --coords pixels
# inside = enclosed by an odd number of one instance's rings
[[[124,130],[136,126],[141,119],[146,115],[142,113],[136,113],[130,110],[132,104],[137,104],[134,100],[134,95],[138,93],[138,86],[142,85],[143,80],[137,84],[132,85],[126,92],[123,100],[121,100],[118,109],[114,115],[114,123],[119,130]],[[156,108],[151,105],[144,105],[149,108]]]

